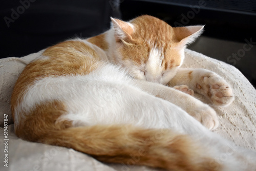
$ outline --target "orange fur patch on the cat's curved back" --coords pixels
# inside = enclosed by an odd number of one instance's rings
[[[105,53],[86,40],[74,39],[47,48],[26,66],[23,75],[37,77],[86,75],[106,60]],[[21,78],[22,79],[22,78]]]

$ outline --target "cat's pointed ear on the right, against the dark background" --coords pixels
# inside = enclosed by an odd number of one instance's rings
[[[204,26],[187,26],[187,27],[175,27],[174,33],[181,46],[190,44],[196,38],[198,38],[203,32]]]

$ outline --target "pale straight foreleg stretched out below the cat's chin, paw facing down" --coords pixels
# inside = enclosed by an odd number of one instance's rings
[[[200,100],[158,83],[136,80],[135,84],[147,93],[178,105],[208,129],[214,130],[218,127],[219,120],[216,112]]]

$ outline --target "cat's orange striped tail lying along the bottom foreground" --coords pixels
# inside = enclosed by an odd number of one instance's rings
[[[191,171],[221,168],[188,136],[170,130],[131,125],[68,127],[49,133],[41,141],[76,149],[102,162],[122,163],[128,168],[133,165]]]

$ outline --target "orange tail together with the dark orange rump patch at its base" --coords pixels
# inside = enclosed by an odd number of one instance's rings
[[[65,106],[54,101],[38,105],[15,125],[18,137],[29,141],[73,148],[102,162],[146,165],[167,170],[216,170],[210,167],[198,142],[171,130],[142,129],[132,125],[72,127],[56,122]]]

